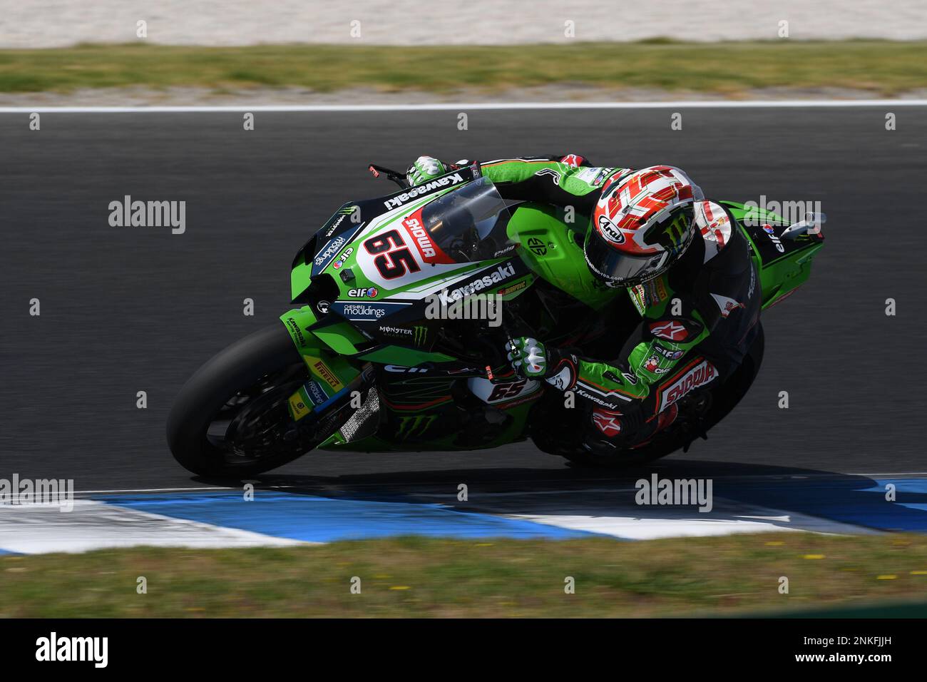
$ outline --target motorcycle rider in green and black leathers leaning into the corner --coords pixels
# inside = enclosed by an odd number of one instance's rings
[[[406,177],[417,185],[468,163],[423,156]],[[580,437],[590,451],[646,444],[677,418],[679,398],[724,380],[743,361],[759,330],[756,267],[730,213],[705,200],[687,174],[671,166],[593,167],[575,154],[476,167],[503,199],[572,206],[587,218],[586,264],[604,286],[627,290],[641,315],[629,343],[617,340],[608,357],[531,337],[506,345],[518,375],[583,401]]]

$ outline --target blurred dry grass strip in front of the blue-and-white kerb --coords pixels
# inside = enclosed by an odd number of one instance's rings
[[[136,593],[139,576],[147,594]],[[352,576],[361,594],[350,593]],[[566,576],[575,594],[565,594]],[[0,617],[679,616],[925,600],[927,537],[903,534],[406,537],[0,557]]]

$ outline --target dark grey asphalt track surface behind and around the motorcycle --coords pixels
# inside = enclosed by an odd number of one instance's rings
[[[671,131],[672,110],[683,129]],[[891,110],[891,109],[889,109]],[[190,487],[165,444],[184,380],[288,307],[289,264],[347,199],[392,187],[366,165],[421,153],[578,152],[678,165],[709,197],[818,200],[827,242],[806,287],[764,316],[752,392],[667,475],[901,473],[924,464],[927,108],[0,114],[0,477],[78,490]],[[108,203],[186,201],[186,232],[111,227]],[[29,302],[41,300],[41,316]],[[242,300],[256,315],[242,315]],[[897,315],[886,316],[895,298]],[[147,409],[135,407],[146,391]],[[789,409],[777,406],[789,392]],[[531,444],[464,453],[311,454],[262,480],[590,485]]]

